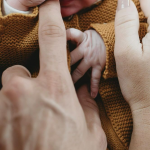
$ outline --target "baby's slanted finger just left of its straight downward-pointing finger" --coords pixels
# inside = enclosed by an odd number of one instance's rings
[[[73,82],[76,83],[90,67],[91,65],[85,59],[83,59],[79,66],[72,73]]]

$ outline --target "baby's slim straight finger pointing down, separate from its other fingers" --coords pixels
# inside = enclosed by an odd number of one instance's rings
[[[101,77],[101,67],[95,66],[92,68],[91,75],[91,96],[95,98],[98,94],[99,82]]]

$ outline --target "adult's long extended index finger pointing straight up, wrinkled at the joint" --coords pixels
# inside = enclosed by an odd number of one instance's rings
[[[40,74],[68,70],[66,31],[60,13],[59,0],[47,0],[40,6],[39,45]]]

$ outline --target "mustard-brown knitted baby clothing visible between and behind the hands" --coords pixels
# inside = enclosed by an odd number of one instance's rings
[[[0,0],[1,1],[1,0]],[[108,149],[126,150],[132,133],[132,116],[119,87],[114,59],[114,19],[118,0],[103,0],[97,6],[65,19],[66,28],[85,31],[95,29],[103,38],[106,50],[106,67],[100,83],[99,108]],[[146,18],[139,0],[133,0],[140,18],[140,39],[147,32]],[[105,23],[105,24],[104,24]],[[70,55],[67,54],[70,68]],[[39,70],[38,8],[32,14],[10,14],[3,17],[0,11],[0,74],[9,66],[24,65],[36,76]]]

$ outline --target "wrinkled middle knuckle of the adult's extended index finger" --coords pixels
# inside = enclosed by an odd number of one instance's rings
[[[46,24],[41,27],[40,30],[41,36],[43,38],[47,37],[63,37],[66,32],[59,25]]]

